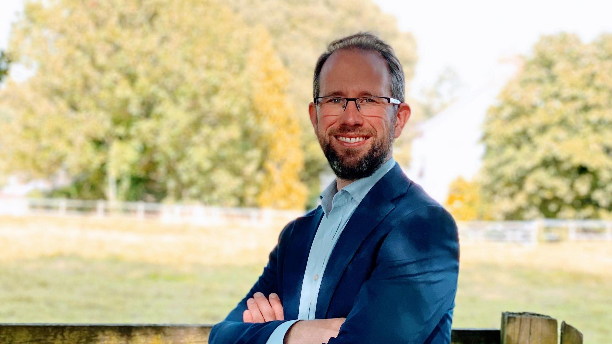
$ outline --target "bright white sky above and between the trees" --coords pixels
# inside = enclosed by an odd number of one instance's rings
[[[400,29],[417,39],[414,91],[433,84],[446,67],[458,73],[466,88],[477,87],[498,68],[500,57],[529,53],[542,34],[574,32],[590,41],[612,32],[611,0],[374,1],[395,13]],[[6,47],[10,23],[23,4],[0,0],[0,49]]]

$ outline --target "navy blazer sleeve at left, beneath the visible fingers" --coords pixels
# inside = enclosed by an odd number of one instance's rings
[[[264,293],[266,297],[270,293],[278,293],[278,251],[281,244],[285,244],[282,238],[288,228],[293,228],[293,221],[283,228],[278,236],[278,243],[272,249],[269,255],[267,265],[264,267],[263,273],[259,276],[255,285],[248,291],[236,307],[231,310],[230,314],[223,321],[212,327],[209,334],[208,342],[210,344],[265,344],[272,332],[280,324],[291,320],[274,320],[264,323],[244,323],[242,321],[242,313],[247,308],[247,300],[253,297],[258,291]],[[283,242],[282,242],[283,241]],[[280,294],[279,294],[280,295]]]

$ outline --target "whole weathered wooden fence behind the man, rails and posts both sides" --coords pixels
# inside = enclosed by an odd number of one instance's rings
[[[1,344],[205,344],[212,325],[1,324]],[[452,344],[557,344],[557,320],[535,313],[502,313],[501,329],[453,329]],[[561,324],[561,344],[582,344],[580,331]]]

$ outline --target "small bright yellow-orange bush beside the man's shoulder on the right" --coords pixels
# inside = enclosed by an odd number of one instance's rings
[[[490,210],[481,194],[479,182],[468,182],[458,177],[449,186],[446,207],[457,221],[491,220]]]

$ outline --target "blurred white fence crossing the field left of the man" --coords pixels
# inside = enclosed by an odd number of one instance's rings
[[[0,215],[13,216],[67,216],[95,217],[127,216],[135,219],[160,220],[165,223],[192,223],[195,225],[241,224],[266,226],[271,223],[289,222],[303,211],[285,211],[259,208],[223,208],[201,204],[162,204],[151,202],[108,202],[67,200],[63,198],[0,199]]]

